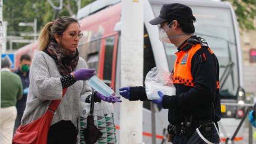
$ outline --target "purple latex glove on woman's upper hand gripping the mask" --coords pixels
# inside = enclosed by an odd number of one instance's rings
[[[74,71],[74,78],[76,80],[89,80],[96,73],[94,68],[81,68],[77,71]]]

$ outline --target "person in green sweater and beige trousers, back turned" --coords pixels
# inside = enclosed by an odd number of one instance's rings
[[[15,107],[22,98],[22,81],[10,71],[10,61],[4,58],[1,69],[1,144],[12,144],[13,128],[17,116]]]

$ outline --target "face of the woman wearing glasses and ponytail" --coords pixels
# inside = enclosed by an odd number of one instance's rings
[[[61,47],[70,52],[76,52],[79,42],[80,26],[76,22],[71,23],[61,36],[55,35],[55,39]]]

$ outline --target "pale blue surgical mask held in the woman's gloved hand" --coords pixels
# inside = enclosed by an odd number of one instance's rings
[[[94,90],[103,94],[105,97],[109,97],[114,91],[108,87],[103,81],[101,81],[97,76],[92,76],[86,81]]]

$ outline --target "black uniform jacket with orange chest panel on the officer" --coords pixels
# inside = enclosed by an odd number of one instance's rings
[[[178,47],[173,83],[176,95],[163,97],[163,108],[169,109],[168,120],[180,124],[185,117],[194,120],[220,120],[218,60],[207,42],[195,35]],[[130,87],[130,100],[147,100],[144,87]]]

